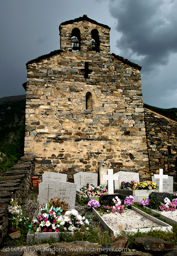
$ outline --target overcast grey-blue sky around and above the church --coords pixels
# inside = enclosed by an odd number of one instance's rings
[[[1,0],[0,98],[25,94],[26,62],[60,49],[60,23],[84,14],[142,66],[144,103],[177,108],[177,0]]]

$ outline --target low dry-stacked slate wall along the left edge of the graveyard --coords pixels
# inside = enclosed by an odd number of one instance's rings
[[[34,158],[24,156],[11,168],[11,171],[0,176],[0,244],[8,230],[8,204],[11,198],[21,204],[28,196],[32,187],[34,165]]]

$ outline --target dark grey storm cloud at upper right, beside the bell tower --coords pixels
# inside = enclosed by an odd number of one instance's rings
[[[177,52],[177,1],[110,0],[109,9],[121,33],[116,46],[143,72],[166,65]]]

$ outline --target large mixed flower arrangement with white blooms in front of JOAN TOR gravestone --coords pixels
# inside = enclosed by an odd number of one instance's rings
[[[30,234],[34,232],[61,232],[61,231],[78,231],[82,225],[89,225],[90,217],[85,218],[78,214],[77,210],[66,211],[65,215],[61,215],[63,210],[60,207],[51,207],[46,204],[45,210],[38,214],[33,220],[30,227]],[[89,228],[87,227],[86,230]]]

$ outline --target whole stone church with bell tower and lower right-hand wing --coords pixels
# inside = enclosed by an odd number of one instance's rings
[[[35,174],[138,172],[150,179],[177,156],[177,121],[144,108],[141,67],[110,54],[107,25],[63,22],[60,50],[26,64],[26,156]]]

